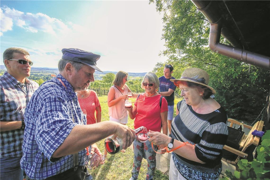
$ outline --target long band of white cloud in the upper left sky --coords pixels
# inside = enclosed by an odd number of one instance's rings
[[[12,30],[13,22],[27,31],[37,33],[42,31],[56,35],[57,32],[69,32],[65,23],[56,18],[51,18],[43,13],[24,13],[5,6],[1,8],[1,32]]]

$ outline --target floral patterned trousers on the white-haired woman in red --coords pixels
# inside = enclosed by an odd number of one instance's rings
[[[153,146],[155,151],[158,150],[156,145]],[[137,179],[139,176],[141,161],[145,158],[148,162],[147,164],[147,174],[146,179],[153,179],[154,172],[156,169],[156,152],[152,148],[151,142],[148,140],[146,142],[140,142],[136,135],[135,140],[133,141],[133,152],[134,152],[134,160],[133,160],[133,169],[131,171],[132,179]]]

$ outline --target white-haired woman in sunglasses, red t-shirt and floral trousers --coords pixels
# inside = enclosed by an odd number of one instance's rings
[[[162,97],[161,107],[160,98],[161,95],[156,92],[159,87],[159,80],[155,73],[147,73],[143,81],[141,82],[141,88],[145,90],[145,93],[140,94],[137,97],[134,107],[131,107],[129,111],[129,117],[134,119],[134,128],[144,126],[147,130],[151,131],[162,131],[163,134],[167,135],[167,114],[168,114],[168,103],[164,97]],[[139,100],[138,100],[139,99]],[[155,151],[158,150],[156,145],[153,146]],[[164,146],[160,146],[164,148]],[[156,169],[156,152],[153,150],[149,141],[140,142],[137,135],[133,141],[133,169],[132,179],[137,179],[141,167],[141,161],[146,158],[148,162],[146,179],[153,179],[154,171]],[[165,152],[164,150],[162,152]]]

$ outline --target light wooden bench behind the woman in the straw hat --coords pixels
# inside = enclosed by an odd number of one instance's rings
[[[234,120],[234,119],[228,119],[228,122],[230,122],[230,127],[233,127],[233,124],[236,125],[240,125],[240,122]],[[235,149],[232,148],[228,145],[224,145],[223,149],[227,150],[229,152],[231,152],[232,154],[237,155],[237,158],[224,158],[222,157],[222,160],[225,162],[228,162],[230,164],[236,165],[236,163],[238,162],[238,160],[240,158],[245,158],[248,159],[249,161],[253,160],[253,151],[254,149],[259,145],[259,141],[260,141],[260,137],[254,136],[251,133],[254,130],[257,131],[262,131],[263,125],[264,125],[264,121],[258,121],[257,123],[254,124],[254,126],[249,126],[246,124],[243,124],[244,127],[250,129],[248,135],[244,135],[244,138],[241,140],[241,142],[239,143],[239,148]]]

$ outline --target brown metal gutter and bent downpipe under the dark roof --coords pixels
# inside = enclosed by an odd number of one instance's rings
[[[220,43],[223,18],[214,1],[191,1],[210,22],[209,47],[212,51],[270,71],[270,57]],[[222,36],[232,45],[238,44],[230,32]]]

